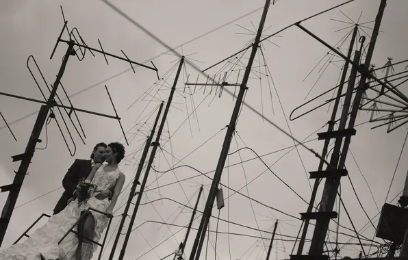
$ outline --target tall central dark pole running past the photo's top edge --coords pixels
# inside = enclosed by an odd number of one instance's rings
[[[190,255],[190,260],[194,260],[194,257],[196,260],[199,260],[200,258],[201,248],[203,248],[205,233],[207,231],[209,218],[211,218],[212,206],[214,205],[214,200],[216,199],[216,194],[217,194],[218,185],[221,179],[222,169],[225,166],[225,160],[227,159],[229,146],[231,145],[232,136],[233,136],[233,133],[235,132],[235,125],[238,119],[238,114],[242,106],[244,94],[245,94],[245,91],[248,89],[248,87],[246,86],[246,83],[248,83],[248,78],[251,73],[253,60],[255,58],[257,49],[259,47],[259,40],[261,38],[262,31],[264,29],[266,14],[268,14],[269,5],[270,5],[270,0],[266,0],[264,12],[262,13],[261,21],[259,22],[257,36],[255,37],[255,42],[253,43],[253,46],[252,46],[251,56],[249,57],[248,64],[245,68],[244,77],[242,79],[242,83],[240,86],[240,92],[238,93],[237,101],[235,102],[235,107],[233,109],[233,113],[231,116],[231,121],[229,122],[227,133],[225,134],[225,140],[224,140],[224,143],[222,144],[220,159],[218,159],[218,164],[216,167],[216,171],[214,173],[214,179],[212,181],[212,185],[209,190],[207,203],[205,205],[205,209],[203,212],[203,218],[201,218],[199,231],[197,231],[196,239],[194,241],[192,252]]]

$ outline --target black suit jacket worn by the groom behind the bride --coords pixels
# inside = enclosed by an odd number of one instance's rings
[[[60,200],[58,200],[57,205],[55,205],[54,214],[58,214],[65,209],[68,200],[72,198],[73,193],[77,190],[79,180],[88,177],[91,169],[90,159],[75,159],[73,165],[68,169],[68,172],[66,172],[65,177],[62,180],[62,186],[65,191]]]

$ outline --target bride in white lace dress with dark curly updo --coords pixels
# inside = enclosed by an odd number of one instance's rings
[[[125,157],[125,148],[118,142],[110,143],[105,151],[105,161],[107,164],[95,164],[88,178],[88,182],[97,186],[98,192],[92,192],[88,200],[79,203],[78,198],[71,198],[68,206],[58,213],[51,216],[44,226],[37,229],[24,242],[10,246],[0,251],[1,260],[90,260],[92,254],[97,250],[97,245],[92,244],[91,239],[99,242],[103,230],[107,226],[108,218],[112,218],[113,209],[116,200],[125,183],[125,174],[120,172],[118,163]],[[104,190],[110,190],[114,187],[111,202],[105,198],[98,199],[98,193]],[[81,199],[82,200],[82,199]],[[95,211],[89,211],[84,221],[73,229],[81,236],[70,232],[62,240],[60,239],[71,229],[71,226],[77,222],[86,209],[91,207],[107,213],[107,216]]]

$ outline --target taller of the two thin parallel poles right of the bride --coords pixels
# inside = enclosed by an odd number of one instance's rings
[[[133,222],[135,221],[136,214],[138,213],[140,200],[142,200],[142,194],[144,192],[144,186],[146,186],[147,178],[149,177],[150,168],[151,168],[151,166],[153,164],[153,160],[155,159],[157,147],[160,145],[159,144],[160,137],[162,135],[162,131],[163,131],[164,125],[166,123],[168,110],[170,109],[171,101],[173,100],[173,96],[175,94],[177,81],[179,80],[179,76],[180,76],[180,72],[181,72],[181,68],[183,67],[183,64],[184,64],[184,56],[181,57],[179,68],[177,69],[177,74],[176,74],[176,77],[175,77],[175,81],[173,83],[173,88],[171,88],[170,95],[168,96],[168,101],[167,101],[167,104],[166,104],[166,109],[164,109],[162,122],[160,122],[159,130],[157,130],[156,140],[155,140],[155,142],[153,142],[151,144],[153,146],[153,148],[151,149],[151,154],[150,154],[149,162],[147,163],[146,172],[144,173],[143,181],[142,181],[142,184],[140,185],[140,191],[139,191],[138,199],[136,200],[135,208],[133,209],[133,214],[131,216],[129,227],[128,227],[127,233],[125,235],[125,241],[123,242],[122,250],[120,250],[120,255],[119,255],[119,258],[118,258],[120,260],[123,259],[123,257],[125,256],[125,250],[126,250],[127,242],[129,242],[129,237],[130,237],[131,229],[132,229],[132,226],[133,226]]]

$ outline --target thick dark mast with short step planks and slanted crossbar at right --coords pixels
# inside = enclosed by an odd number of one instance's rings
[[[357,117],[357,113],[359,110],[359,106],[361,103],[361,97],[364,93],[365,90],[369,88],[368,83],[366,82],[367,79],[374,79],[376,81],[379,81],[379,79],[376,79],[371,73],[370,73],[370,62],[372,59],[372,54],[374,52],[374,47],[377,42],[377,36],[379,34],[379,28],[381,25],[381,20],[383,18],[383,12],[386,6],[387,0],[381,0],[380,6],[379,6],[379,12],[376,16],[375,19],[375,24],[374,24],[374,29],[372,31],[372,37],[370,44],[368,46],[368,52],[366,56],[366,60],[364,64],[359,64],[359,55],[361,55],[361,49],[360,51],[356,51],[355,53],[355,60],[350,61],[348,57],[345,57],[342,55],[342,53],[339,53],[337,50],[335,50],[333,47],[331,47],[329,44],[312,34],[310,31],[305,29],[300,23],[297,23],[296,26],[305,31],[307,34],[324,44],[326,47],[329,47],[332,51],[337,53],[337,55],[340,55],[340,57],[343,57],[346,61],[350,62],[350,64],[353,65],[353,70],[352,70],[352,75],[350,75],[350,81],[348,85],[348,91],[346,93],[346,98],[344,101],[344,107],[342,111],[342,117],[340,118],[340,125],[339,129],[337,131],[328,131],[327,133],[320,133],[319,139],[320,140],[327,140],[327,139],[333,139],[335,138],[335,147],[333,149],[333,153],[331,156],[331,161],[330,161],[330,166],[324,170],[324,171],[318,171],[318,172],[310,172],[311,173],[311,178],[326,178],[326,181],[324,183],[324,190],[322,194],[322,200],[320,203],[320,209],[318,212],[307,212],[307,213],[301,213],[302,219],[303,220],[311,220],[315,219],[316,220],[316,226],[314,229],[314,235],[311,239],[311,248],[309,250],[309,257],[308,259],[328,259],[328,256],[322,255],[323,252],[323,246],[324,246],[324,239],[326,238],[327,235],[327,230],[329,229],[329,222],[331,218],[336,218],[337,213],[333,211],[333,206],[335,203],[335,198],[337,196],[337,190],[340,185],[340,179],[343,176],[346,176],[347,171],[344,169],[344,164],[346,162],[346,155],[348,153],[348,147],[350,146],[350,141],[351,141],[351,136],[355,135],[355,129],[353,128],[355,125],[355,119]],[[363,42],[364,38],[361,42],[361,48],[363,47]],[[361,79],[359,81],[359,86],[357,88],[357,92],[355,94],[355,99],[353,101],[353,107],[350,112],[350,120],[348,122],[348,127],[346,127],[346,121],[348,119],[348,109],[350,105],[350,101],[352,98],[352,90],[354,87],[354,82],[355,78],[357,76],[357,70],[359,73],[361,73]],[[382,82],[381,82],[382,83]],[[385,83],[383,83],[383,86],[387,88]],[[344,138],[344,144],[342,146],[342,141]],[[340,153],[341,152],[341,153]],[[313,201],[311,201],[313,203]],[[309,206],[310,207],[310,206]],[[304,239],[302,242],[302,246],[304,244]],[[302,250],[303,248],[301,248]],[[291,255],[291,259],[306,259],[306,256],[301,255],[301,250],[298,250],[298,255]]]

